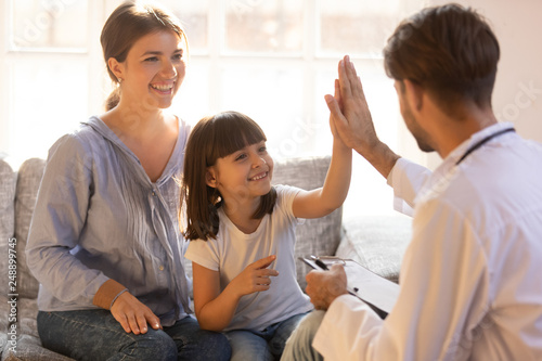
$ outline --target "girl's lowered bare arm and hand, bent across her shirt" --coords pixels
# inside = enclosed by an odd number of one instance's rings
[[[273,255],[248,265],[222,292],[219,271],[192,262],[194,308],[199,327],[222,331],[232,321],[241,297],[269,289],[270,276],[279,275],[276,270],[268,269],[275,258]]]

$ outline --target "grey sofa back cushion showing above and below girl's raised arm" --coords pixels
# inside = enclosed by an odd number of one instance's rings
[[[275,162],[273,184],[288,184],[307,191],[324,184],[331,157],[287,158]],[[296,229],[295,256],[334,255],[340,243],[343,207],[317,219],[307,219]],[[307,285],[308,271],[304,262],[297,261],[297,281],[302,289]]]

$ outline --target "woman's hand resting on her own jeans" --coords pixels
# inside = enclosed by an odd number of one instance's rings
[[[127,333],[145,334],[147,323],[154,330],[162,328],[160,319],[129,292],[118,296],[111,308],[111,313]]]

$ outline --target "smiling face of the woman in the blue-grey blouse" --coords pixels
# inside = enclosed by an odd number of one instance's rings
[[[183,41],[170,30],[140,38],[120,63],[121,102],[167,108],[184,79]],[[136,104],[134,104],[136,105]]]

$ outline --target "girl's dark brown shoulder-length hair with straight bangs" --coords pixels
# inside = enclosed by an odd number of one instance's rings
[[[223,112],[199,120],[192,130],[185,147],[181,185],[181,204],[186,211],[186,240],[216,238],[219,228],[218,208],[222,206],[220,192],[207,185],[207,168],[247,145],[267,141],[256,121],[237,112]],[[261,197],[253,215],[260,219],[273,211],[276,191]]]

